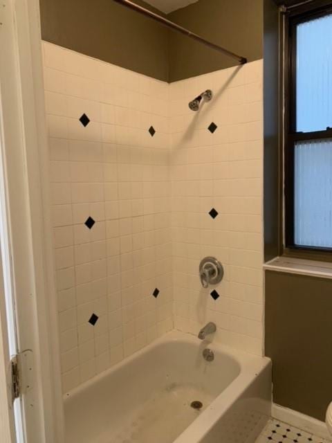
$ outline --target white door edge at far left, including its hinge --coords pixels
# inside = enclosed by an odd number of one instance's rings
[[[0,69],[1,71],[1,69]],[[1,81],[0,81],[1,84]],[[0,116],[3,117],[2,96]],[[26,392],[33,386],[33,352],[19,351],[17,309],[15,305],[14,250],[10,240],[8,184],[6,180],[5,134],[0,125],[0,443],[28,442],[24,419]],[[10,143],[9,143],[10,145]],[[19,276],[18,276],[19,277]],[[17,278],[17,277],[16,277]],[[21,301],[19,302],[21,305]],[[31,386],[30,386],[31,385]]]

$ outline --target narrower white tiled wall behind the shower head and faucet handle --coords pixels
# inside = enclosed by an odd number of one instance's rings
[[[254,354],[263,329],[262,71],[252,62],[175,82],[169,93],[175,326],[197,334],[213,320],[216,340]],[[212,101],[190,111],[206,89]],[[199,282],[208,255],[225,269],[217,300]]]

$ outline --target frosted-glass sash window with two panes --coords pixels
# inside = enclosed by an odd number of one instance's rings
[[[288,35],[286,248],[331,254],[332,8],[293,15]]]

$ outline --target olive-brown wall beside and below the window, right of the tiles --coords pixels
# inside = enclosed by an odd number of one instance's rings
[[[284,3],[284,2],[283,2]],[[278,13],[264,0],[264,252],[279,254]],[[324,420],[332,400],[332,280],[266,272],[266,354],[273,401]]]

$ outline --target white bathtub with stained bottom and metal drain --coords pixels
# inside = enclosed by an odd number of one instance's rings
[[[170,332],[65,396],[66,443],[252,443],[270,408],[269,359]]]

